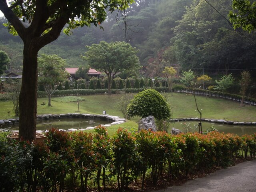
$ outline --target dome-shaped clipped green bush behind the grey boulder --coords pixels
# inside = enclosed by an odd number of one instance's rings
[[[131,116],[154,116],[156,119],[168,119],[172,112],[170,105],[164,97],[154,89],[144,90],[134,96],[127,107],[127,113]]]

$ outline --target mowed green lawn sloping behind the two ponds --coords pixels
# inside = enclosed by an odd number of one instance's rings
[[[122,112],[118,108],[120,98],[124,94],[108,95],[86,95],[79,96],[84,98],[84,101],[62,102],[54,101],[52,98],[52,106],[41,105],[43,102],[48,102],[48,98],[38,98],[38,114],[66,114],[66,113],[90,113],[102,114],[106,111],[107,114],[122,117]],[[220,98],[206,98],[205,96],[196,96],[198,108],[202,112],[202,118],[223,119],[228,118],[232,121],[256,121],[256,106],[246,105],[240,106],[239,102],[225,100]],[[172,108],[173,118],[188,118],[200,117],[196,110],[194,96],[191,94],[174,93],[169,94],[168,102]],[[8,116],[8,111],[10,116]],[[14,110],[12,102],[0,102],[0,119],[14,118]],[[133,119],[138,121],[139,117]]]

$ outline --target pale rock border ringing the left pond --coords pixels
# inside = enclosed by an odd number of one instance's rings
[[[109,127],[111,125],[118,125],[126,122],[125,118],[120,118],[119,116],[112,116],[112,115],[95,115],[95,114],[82,114],[82,113],[68,113],[68,114],[44,114],[44,115],[37,115],[36,120],[48,120],[48,119],[59,119],[59,118],[100,118],[100,119],[106,119],[112,121],[112,123],[108,124],[102,124],[101,126],[104,127]],[[16,119],[3,119],[0,120],[0,125],[6,126],[8,124],[17,124],[19,122],[19,118]],[[90,130],[94,129],[94,127],[88,126],[87,128],[84,129],[68,129],[68,130],[63,130],[63,131],[83,131],[83,130]],[[2,129],[4,130],[4,129]],[[60,129],[61,130],[61,129]],[[37,130],[36,132],[44,132],[42,130]]]

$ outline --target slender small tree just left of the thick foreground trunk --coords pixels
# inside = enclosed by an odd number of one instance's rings
[[[7,79],[6,80],[6,91],[13,104],[15,116],[19,116],[19,94],[21,88],[20,79]]]

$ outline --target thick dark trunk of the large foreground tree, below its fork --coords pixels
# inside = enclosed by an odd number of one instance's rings
[[[37,53],[33,44],[24,43],[19,138],[30,141],[36,139]]]

